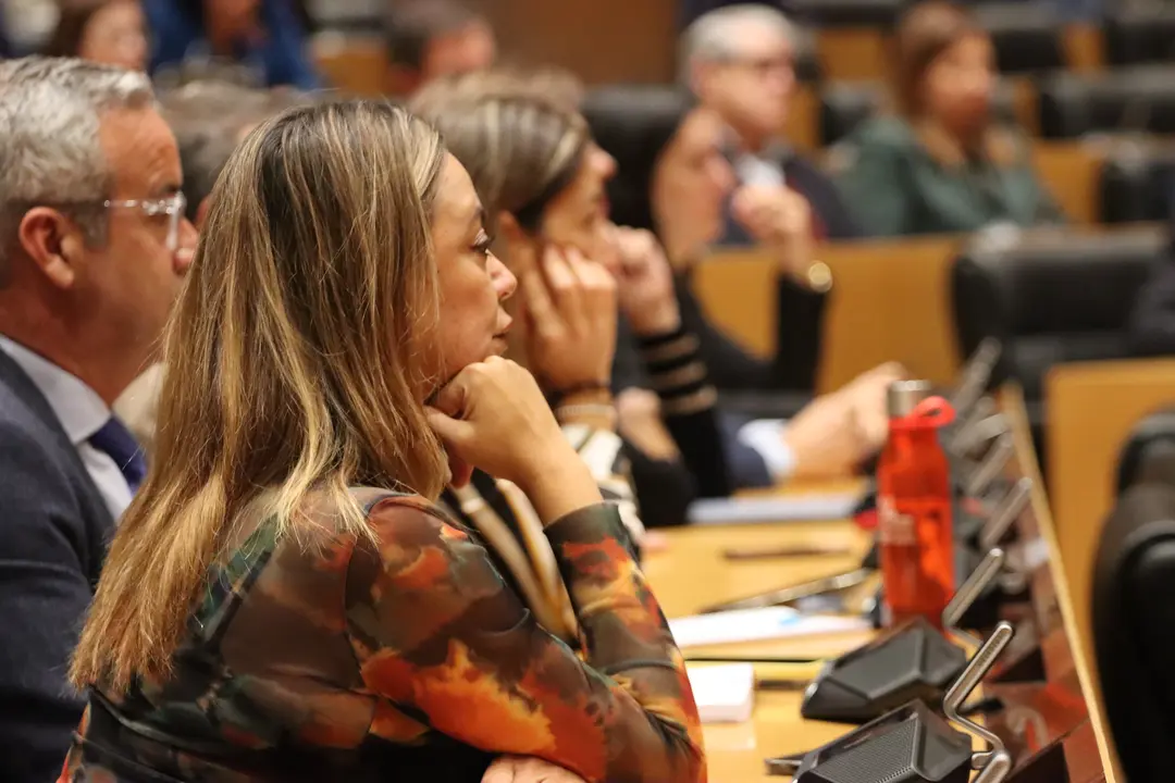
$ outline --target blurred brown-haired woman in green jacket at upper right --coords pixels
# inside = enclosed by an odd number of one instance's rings
[[[995,124],[995,50],[972,12],[915,5],[895,34],[897,113],[845,144],[840,185],[875,236],[955,234],[1063,221],[1027,144]]]

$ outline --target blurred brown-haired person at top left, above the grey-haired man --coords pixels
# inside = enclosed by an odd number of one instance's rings
[[[45,54],[147,69],[147,20],[139,0],[61,0],[60,9]]]

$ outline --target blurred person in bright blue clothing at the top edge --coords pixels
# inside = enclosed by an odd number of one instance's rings
[[[321,87],[291,0],[143,0],[150,72],[237,66],[258,87]]]

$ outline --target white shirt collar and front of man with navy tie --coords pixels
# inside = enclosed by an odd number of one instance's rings
[[[4,335],[0,335],[0,351],[12,357],[48,400],[110,515],[118,521],[130,505],[130,486],[109,454],[89,445],[90,437],[110,419],[110,409],[76,376]]]

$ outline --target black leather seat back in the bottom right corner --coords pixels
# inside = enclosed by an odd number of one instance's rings
[[[1140,484],[1119,499],[1102,528],[1093,581],[1097,676],[1128,781],[1171,778],[1173,593],[1175,488]]]

